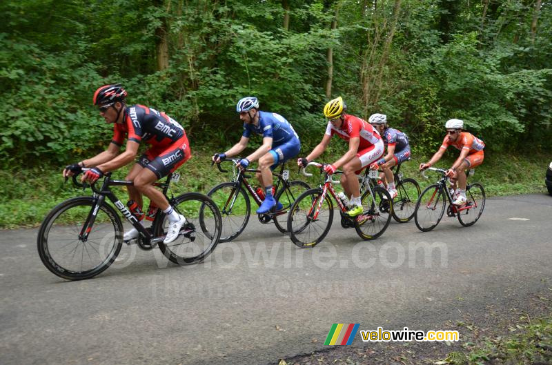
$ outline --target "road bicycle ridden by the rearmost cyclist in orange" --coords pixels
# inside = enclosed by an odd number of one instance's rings
[[[468,227],[475,224],[481,217],[485,208],[485,190],[480,183],[466,184],[466,204],[455,206],[453,197],[449,191],[449,178],[446,177],[446,170],[442,168],[430,167],[427,170],[438,172],[441,177],[437,184],[428,186],[418,198],[415,208],[414,221],[418,229],[423,232],[432,230],[441,221],[446,208],[446,215],[449,217],[458,217],[462,226]],[[473,169],[467,174],[473,175]],[[425,171],[422,175],[426,177]],[[427,178],[427,177],[426,177]],[[446,207],[446,201],[449,206]]]

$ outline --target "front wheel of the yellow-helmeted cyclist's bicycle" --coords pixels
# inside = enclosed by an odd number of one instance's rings
[[[332,226],[333,203],[328,195],[324,201],[320,199],[322,189],[306,190],[291,206],[288,233],[293,243],[301,248],[319,244]]]

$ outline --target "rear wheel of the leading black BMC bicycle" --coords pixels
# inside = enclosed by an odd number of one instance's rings
[[[179,237],[170,244],[159,242],[159,249],[177,265],[190,265],[205,259],[219,243],[221,216],[215,202],[207,195],[186,193],[171,201],[178,213],[184,215],[186,223]],[[155,236],[166,235],[168,219],[159,219],[155,226]]]

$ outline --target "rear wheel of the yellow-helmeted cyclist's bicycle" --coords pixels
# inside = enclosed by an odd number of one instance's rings
[[[376,239],[380,237],[391,221],[393,203],[388,191],[380,186],[373,188],[374,195],[368,189],[360,199],[363,212],[355,217],[355,230],[362,239]],[[377,208],[376,208],[377,207]]]

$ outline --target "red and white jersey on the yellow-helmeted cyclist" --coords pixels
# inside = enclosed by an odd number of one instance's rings
[[[328,121],[326,135],[337,135],[339,138],[349,141],[351,138],[359,137],[360,144],[358,150],[364,150],[382,141],[380,134],[364,119],[355,117],[354,115],[344,115],[344,121],[341,128],[335,128]]]

